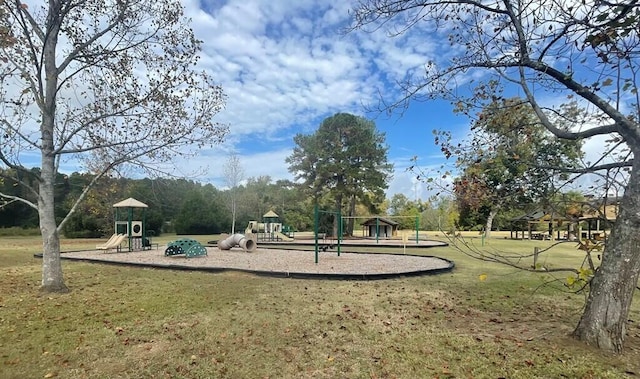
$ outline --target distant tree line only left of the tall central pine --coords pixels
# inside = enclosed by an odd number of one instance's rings
[[[37,170],[37,169],[31,169]],[[3,171],[3,174],[8,174]],[[55,181],[56,219],[70,211],[94,175],[74,172],[57,174]],[[21,186],[10,180],[0,182],[0,191],[29,198]],[[238,199],[237,225],[243,231],[250,220],[260,220],[273,210],[298,230],[307,230],[313,222],[313,207],[301,198],[296,186],[263,176],[249,178],[233,190]],[[216,234],[231,230],[231,190],[194,180],[157,178],[131,179],[102,177],[85,196],[63,228],[67,237],[103,237],[114,230],[113,204],[133,197],[147,204],[147,229],[160,234]],[[38,212],[21,201],[6,202],[0,208],[0,227],[37,228]],[[312,227],[312,226],[311,226]]]

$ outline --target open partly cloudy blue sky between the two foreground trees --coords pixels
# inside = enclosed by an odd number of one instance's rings
[[[386,134],[395,166],[388,196],[426,199],[426,189],[406,172],[418,156],[425,165],[443,160],[433,129],[466,135],[469,120],[454,116],[447,102],[413,103],[400,117],[367,112],[379,93],[397,96],[395,81],[421,70],[434,54],[434,40],[417,34],[387,38],[383,31],[352,32],[350,2],[325,0],[229,0],[183,2],[197,38],[204,41],[200,66],[224,88],[226,109],[217,120],[230,126],[223,146],[202,151],[190,165],[206,166],[198,180],[222,186],[222,164],[235,152],[245,177],[293,179],[285,158],[296,133],[312,133],[337,112],[373,119]]]

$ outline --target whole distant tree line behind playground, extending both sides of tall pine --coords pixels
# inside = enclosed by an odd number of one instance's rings
[[[31,169],[37,170],[37,169]],[[2,174],[11,173],[0,170]],[[94,175],[74,172],[57,174],[55,184],[56,219],[61,220],[69,212]],[[0,181],[0,191],[11,196],[28,196],[21,186],[10,180]],[[178,178],[132,179],[102,177],[87,192],[84,202],[74,212],[63,228],[67,238],[102,238],[114,230],[113,204],[133,197],[147,204],[146,227],[154,235],[217,234],[232,229],[232,197],[237,199],[236,231],[244,232],[251,220],[260,221],[262,215],[272,210],[280,221],[296,231],[313,230],[314,200],[303,186],[288,180],[273,180],[268,176],[248,178],[233,189],[219,189],[211,184]],[[319,207],[331,210],[330,197],[321,198]],[[420,220],[422,230],[447,229],[457,222],[455,202],[450,199],[437,201],[409,200],[403,194],[376,203],[377,211],[358,203],[355,217],[401,216],[396,219],[401,228],[414,229],[415,219]],[[345,213],[346,215],[346,213]],[[331,234],[333,216],[320,219],[320,229]],[[359,221],[364,221],[361,219]],[[440,221],[440,224],[439,224]],[[358,228],[358,220],[354,221]],[[24,202],[5,202],[0,208],[0,228],[38,228],[38,212]]]

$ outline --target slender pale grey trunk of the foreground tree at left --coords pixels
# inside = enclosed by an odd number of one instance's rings
[[[47,39],[43,57],[45,68],[45,96],[41,106],[42,121],[40,147],[42,160],[38,195],[38,216],[42,234],[42,290],[48,292],[67,292],[62,275],[60,260],[60,236],[55,217],[54,185],[56,180],[56,160],[53,133],[55,130],[56,93],[58,90],[58,68],[56,66],[56,45],[61,24],[60,4],[49,1],[47,18]]]

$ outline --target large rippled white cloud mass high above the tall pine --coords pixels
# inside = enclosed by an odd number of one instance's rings
[[[230,0],[207,12],[194,1],[185,6],[204,41],[200,65],[228,95],[219,119],[239,136],[276,138],[338,111],[359,113],[383,87],[374,62],[401,76],[424,63],[415,51],[428,45],[400,48],[383,33],[341,34],[349,2]]]

